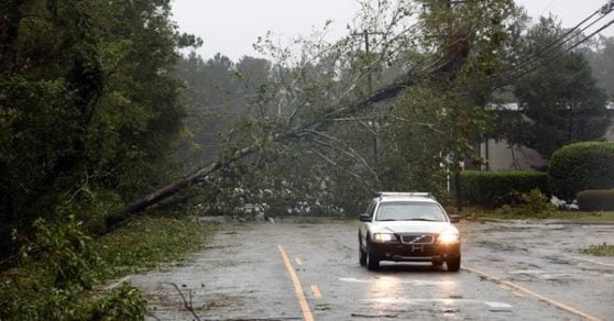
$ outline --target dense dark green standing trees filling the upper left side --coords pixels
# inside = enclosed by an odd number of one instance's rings
[[[185,113],[167,0],[0,4],[0,234],[106,213],[176,175]]]

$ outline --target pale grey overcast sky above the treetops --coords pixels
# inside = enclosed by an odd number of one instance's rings
[[[516,0],[534,19],[552,13],[563,26],[573,26],[606,0]],[[252,44],[267,31],[282,37],[309,35],[332,20],[329,37],[344,34],[358,12],[357,0],[174,0],[174,20],[180,31],[200,36],[204,58],[221,53],[233,60],[257,56]],[[614,14],[612,14],[614,16]],[[613,18],[603,19],[601,25]],[[595,25],[595,26],[596,26]],[[614,25],[604,31],[614,35]]]

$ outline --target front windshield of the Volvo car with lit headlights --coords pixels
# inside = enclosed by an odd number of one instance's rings
[[[447,221],[439,204],[432,202],[381,202],[376,221]]]

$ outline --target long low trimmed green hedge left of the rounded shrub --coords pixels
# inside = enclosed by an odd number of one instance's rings
[[[495,207],[520,202],[522,193],[539,189],[548,195],[547,175],[538,171],[461,173],[463,199],[473,204]]]

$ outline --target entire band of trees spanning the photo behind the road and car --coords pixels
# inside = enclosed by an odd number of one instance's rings
[[[201,187],[190,197],[215,211],[252,201],[332,211],[373,188],[442,191],[446,167],[458,173],[485,134],[546,156],[602,135],[606,96],[588,62],[607,86],[611,41],[517,75],[564,32],[555,21],[528,27],[507,0],[427,8],[364,2],[335,43],[299,38],[293,55],[265,36],[256,47],[268,59],[232,62],[178,59],[198,40],[177,32],[168,1],[3,2],[4,231],[72,213],[103,230],[108,213],[217,159],[190,180]],[[384,31],[369,53],[355,36],[365,30]],[[531,121],[500,114],[493,129],[485,107],[502,97]]]

